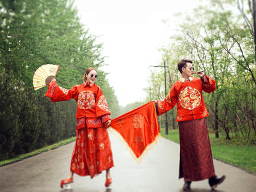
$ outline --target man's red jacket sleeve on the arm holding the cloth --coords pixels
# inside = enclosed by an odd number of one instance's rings
[[[165,97],[163,101],[157,100],[157,107],[158,107],[158,114],[162,115],[167,111],[170,111],[174,108],[175,104],[177,103],[177,93],[175,90],[175,85],[172,86],[170,93]]]

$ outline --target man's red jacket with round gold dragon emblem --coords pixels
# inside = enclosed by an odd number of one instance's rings
[[[157,115],[166,113],[177,103],[176,122],[209,116],[202,91],[211,93],[215,89],[215,81],[209,76],[204,76],[204,83],[198,77],[192,77],[191,81],[180,78],[173,84],[170,93],[163,101],[157,100],[159,111]]]

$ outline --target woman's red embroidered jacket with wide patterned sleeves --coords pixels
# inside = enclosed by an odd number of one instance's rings
[[[55,79],[48,85],[49,89],[45,93],[51,98],[51,102],[75,99],[77,102],[77,129],[104,127],[103,123],[110,120],[110,110],[106,99],[96,84],[78,84],[71,90],[58,86]],[[86,117],[86,118],[84,118]]]

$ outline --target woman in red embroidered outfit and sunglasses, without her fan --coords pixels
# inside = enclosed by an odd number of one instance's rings
[[[70,163],[70,177],[61,180],[63,185],[73,182],[73,175],[95,175],[106,170],[105,186],[111,184],[110,168],[114,166],[111,143],[106,128],[111,124],[110,111],[106,99],[95,83],[97,71],[88,68],[84,83],[73,86],[71,90],[61,88],[52,79],[45,94],[51,102],[75,99],[77,102],[76,144]]]

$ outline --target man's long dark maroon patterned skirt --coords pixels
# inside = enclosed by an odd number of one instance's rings
[[[205,118],[179,122],[179,179],[203,180],[215,176],[211,143]]]

